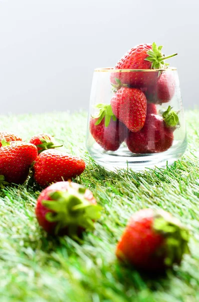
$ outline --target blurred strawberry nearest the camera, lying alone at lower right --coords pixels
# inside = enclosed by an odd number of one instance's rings
[[[143,209],[130,219],[116,249],[116,256],[137,268],[164,270],[180,264],[188,253],[188,231],[163,210]]]

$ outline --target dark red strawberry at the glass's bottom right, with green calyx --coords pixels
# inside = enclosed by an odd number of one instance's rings
[[[151,110],[152,105],[154,104],[148,104],[149,110]],[[177,114],[171,111],[170,106],[162,117],[149,111],[144,127],[136,133],[128,132],[126,144],[132,153],[164,152],[172,145],[173,131],[178,123]]]

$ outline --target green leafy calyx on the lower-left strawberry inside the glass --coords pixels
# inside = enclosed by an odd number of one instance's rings
[[[107,105],[99,103],[95,107],[99,109],[99,113],[93,116],[93,118],[97,119],[97,121],[95,122],[95,126],[99,125],[103,118],[105,118],[105,127],[108,127],[111,118],[113,119],[113,121],[117,120],[116,116],[113,114],[113,110],[110,104]]]

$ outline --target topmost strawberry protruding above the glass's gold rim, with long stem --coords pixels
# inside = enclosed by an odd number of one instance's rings
[[[161,52],[162,46],[157,47],[155,42],[152,44],[139,44],[125,53],[117,62],[114,69],[136,69],[129,72],[112,72],[111,83],[117,85],[116,79],[129,87],[144,87],[153,85],[158,80],[158,71],[139,71],[139,69],[161,69],[168,64],[164,60],[171,58],[177,53],[164,56]]]

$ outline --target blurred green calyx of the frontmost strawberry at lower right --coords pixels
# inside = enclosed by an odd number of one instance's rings
[[[164,243],[158,249],[157,256],[164,257],[165,266],[170,267],[173,263],[179,264],[182,255],[189,253],[188,230],[180,224],[178,219],[163,211],[155,214],[153,229],[164,238]]]

